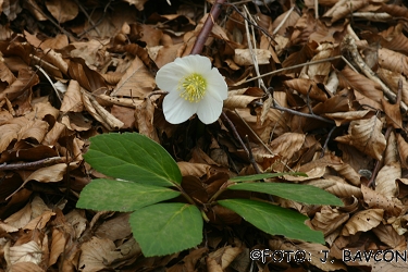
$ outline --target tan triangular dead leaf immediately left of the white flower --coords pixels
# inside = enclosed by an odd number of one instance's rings
[[[154,77],[143,61],[135,57],[111,96],[146,98],[156,87]]]

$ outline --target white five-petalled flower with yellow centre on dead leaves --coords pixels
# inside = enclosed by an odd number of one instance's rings
[[[165,120],[180,124],[197,113],[205,124],[215,122],[227,97],[227,86],[211,61],[202,55],[177,58],[156,75],[160,89],[169,91],[163,100]]]

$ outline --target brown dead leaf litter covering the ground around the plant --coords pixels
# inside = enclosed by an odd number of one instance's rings
[[[360,0],[225,4],[202,52],[230,87],[225,115],[199,134],[197,119],[166,123],[154,75],[189,54],[213,3],[2,3],[1,271],[407,269],[406,261],[344,257],[407,247],[407,8]],[[296,171],[308,176],[265,182],[317,186],[345,206],[273,198],[307,215],[325,245],[265,235],[217,207],[197,248],[145,258],[127,213],[75,208],[82,188],[104,177],[84,162],[89,138],[109,132],[139,132],[161,144],[198,202],[232,176]],[[255,249],[311,258],[263,263],[250,260]]]

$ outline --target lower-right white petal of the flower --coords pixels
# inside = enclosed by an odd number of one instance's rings
[[[210,94],[206,94],[202,100],[199,102],[197,115],[205,124],[214,123],[221,115],[222,111],[222,99]]]

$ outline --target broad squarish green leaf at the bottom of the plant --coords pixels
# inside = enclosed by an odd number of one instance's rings
[[[196,206],[158,203],[131,214],[133,236],[145,257],[163,256],[197,246],[202,240],[202,218]]]

